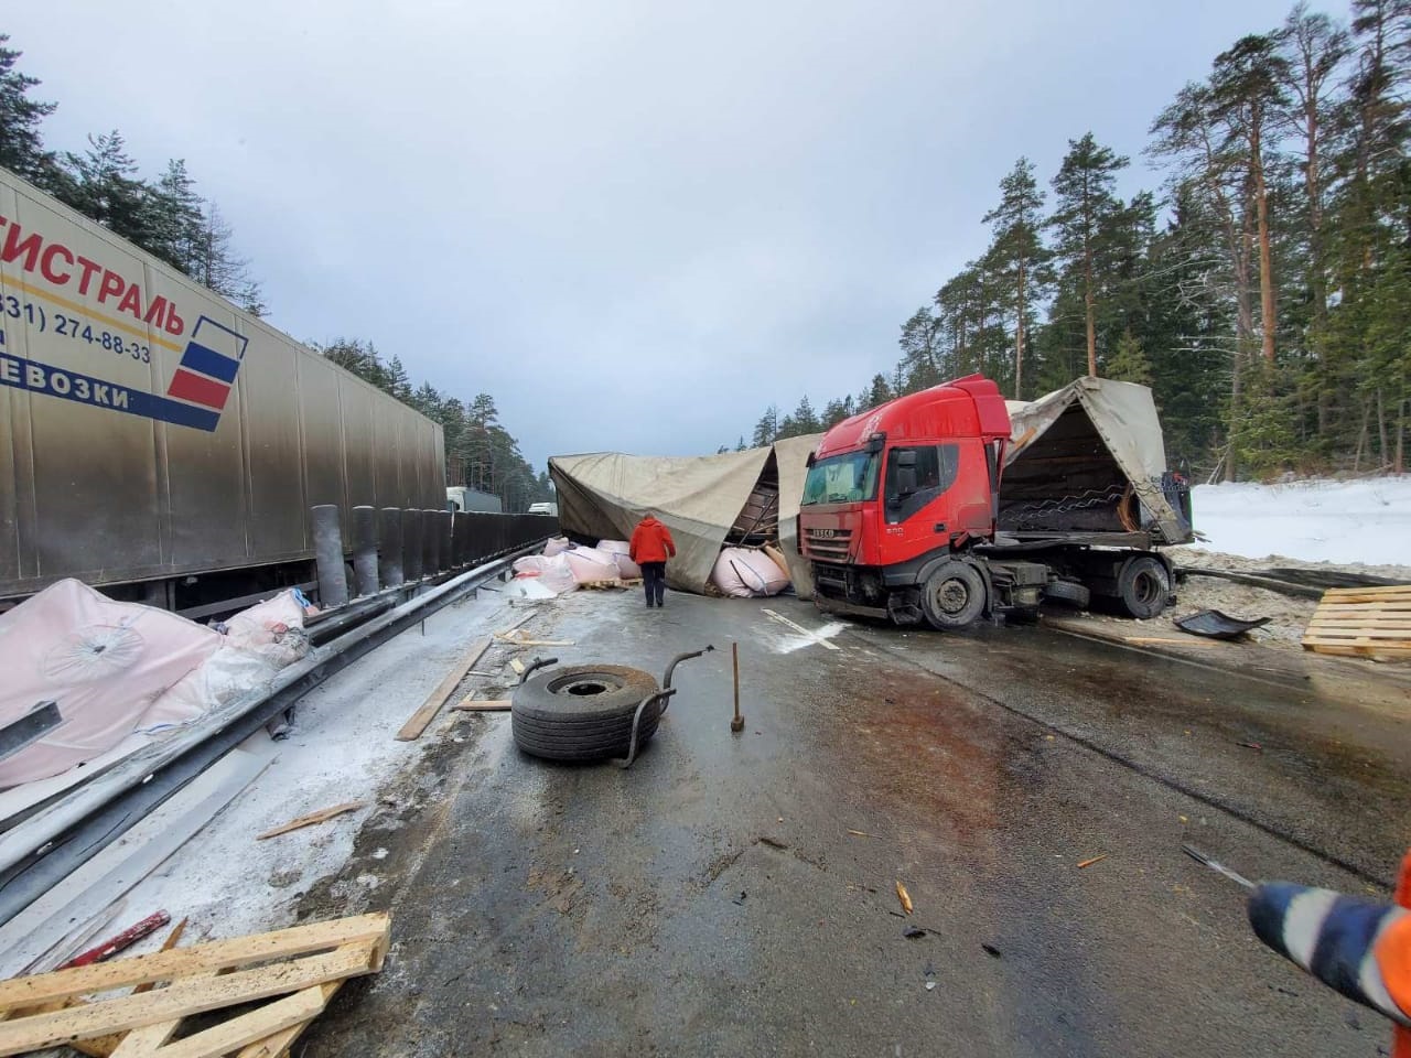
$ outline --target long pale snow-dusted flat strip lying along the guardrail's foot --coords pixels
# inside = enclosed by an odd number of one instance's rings
[[[73,928],[79,916],[121,896],[196,835],[274,755],[233,749],[159,808],[0,927],[0,952],[13,972],[27,966]],[[3,986],[0,986],[3,987]]]

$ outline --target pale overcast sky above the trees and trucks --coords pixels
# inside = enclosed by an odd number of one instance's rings
[[[542,468],[858,392],[1019,155],[1047,183],[1092,130],[1154,186],[1153,116],[1290,7],[48,0],[0,31],[51,148],[185,158],[275,326],[492,394]]]

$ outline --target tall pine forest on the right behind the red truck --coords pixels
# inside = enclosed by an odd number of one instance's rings
[[[753,444],[983,372],[1033,399],[1081,375],[1154,391],[1202,480],[1405,468],[1411,411],[1411,0],[1300,3],[1154,117],[1160,188],[1092,133],[999,182],[985,253],[900,333],[890,375],[770,406]],[[745,437],[739,439],[744,446]]]

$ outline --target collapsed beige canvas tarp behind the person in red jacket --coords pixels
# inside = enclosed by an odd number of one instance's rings
[[[799,498],[809,453],[817,436],[794,437],[768,449],[718,456],[555,456],[549,474],[559,498],[559,525],[570,535],[625,540],[648,511],[676,540],[666,564],[673,588],[704,592],[725,536],[739,516],[770,457],[779,470],[780,547],[800,591],[807,570],[797,554]]]

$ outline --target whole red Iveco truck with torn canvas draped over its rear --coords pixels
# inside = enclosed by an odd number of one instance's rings
[[[1156,547],[1192,539],[1189,491],[1161,463],[1144,387],[1085,378],[1026,405],[971,375],[900,396],[810,461],[814,601],[937,629],[1033,621],[1043,598],[1156,616],[1174,602]]]

